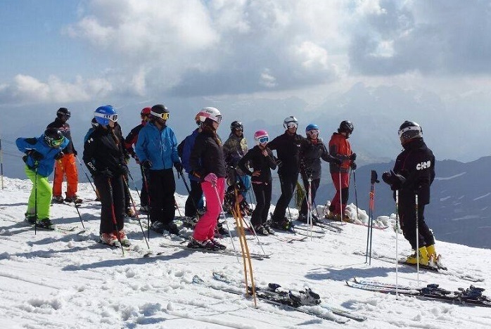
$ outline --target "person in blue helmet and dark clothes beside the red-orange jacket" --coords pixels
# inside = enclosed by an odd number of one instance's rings
[[[298,213],[298,220],[307,223],[307,198],[310,187],[310,206],[315,205],[315,195],[317,188],[321,183],[321,159],[334,164],[341,164],[343,160],[333,157],[329,154],[322,141],[319,138],[319,127],[317,124],[309,124],[305,128],[307,141],[300,147],[300,174],[302,175],[303,186],[305,188],[305,198],[302,201],[302,207]],[[309,184],[309,179],[311,179]],[[309,186],[310,185],[310,186]],[[312,222],[319,221],[317,216],[312,214]]]

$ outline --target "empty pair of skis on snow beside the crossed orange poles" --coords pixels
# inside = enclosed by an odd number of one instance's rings
[[[235,295],[243,295],[241,284],[229,280],[221,273],[214,272],[213,278],[222,283],[230,285],[227,288],[210,285],[205,283],[198,276],[193,277],[193,283],[205,285],[208,288],[228,292]],[[248,287],[249,295],[252,295],[252,288]],[[289,311],[298,311],[311,316],[316,316],[324,320],[334,321],[336,323],[346,323],[350,319],[355,321],[365,321],[366,317],[354,314],[344,309],[331,307],[321,302],[320,296],[310,289],[299,292],[291,292],[290,290],[281,289],[281,286],[276,283],[269,283],[267,287],[255,287],[255,295],[257,299],[268,304],[274,304]]]

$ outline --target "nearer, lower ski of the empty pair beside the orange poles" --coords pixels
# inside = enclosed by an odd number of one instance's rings
[[[234,294],[234,295],[239,295],[239,296],[244,295],[243,292],[239,292],[238,290],[233,290],[231,288],[219,288],[219,287],[216,287],[214,285],[208,285],[199,276],[193,277],[193,283],[205,285],[206,287],[212,288],[215,290],[219,290],[219,291],[223,291],[223,292],[229,292],[229,293]],[[315,316],[315,317],[321,318],[323,320],[333,321],[333,322],[340,323],[340,324],[344,324],[344,323],[347,323],[347,321],[349,321],[348,318],[346,318],[346,319],[336,318],[336,317],[327,316],[327,315],[324,315],[321,313],[317,313],[314,311],[308,311],[306,309],[300,309],[298,307],[294,307],[292,305],[295,304],[295,302],[293,302],[293,300],[290,297],[271,296],[271,295],[264,294],[263,292],[260,292],[258,290],[256,290],[255,297],[257,299],[260,299],[260,301],[262,301],[262,302],[276,305],[276,306],[281,307],[283,309],[286,309],[288,311],[298,311],[300,313],[308,314],[310,316]]]

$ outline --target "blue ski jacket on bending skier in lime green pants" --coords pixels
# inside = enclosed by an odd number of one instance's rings
[[[51,148],[46,141],[44,141],[44,134],[39,137],[32,138],[17,138],[15,141],[15,145],[20,150],[20,152],[26,153],[25,164],[31,170],[35,170],[37,168],[37,174],[39,176],[47,177],[51,175],[53,172],[53,168],[55,165],[55,157],[58,153],[68,146],[70,141],[68,138],[63,137],[63,142],[59,148]],[[32,158],[32,155],[28,154],[30,150],[36,150],[37,152],[43,155],[43,158],[39,161],[35,161]]]

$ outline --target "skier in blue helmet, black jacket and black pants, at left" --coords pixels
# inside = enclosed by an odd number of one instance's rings
[[[124,143],[115,134],[117,112],[111,105],[94,112],[97,126],[84,143],[84,163],[94,177],[101,199],[101,242],[107,245],[129,245],[123,231],[125,225],[125,162]]]

